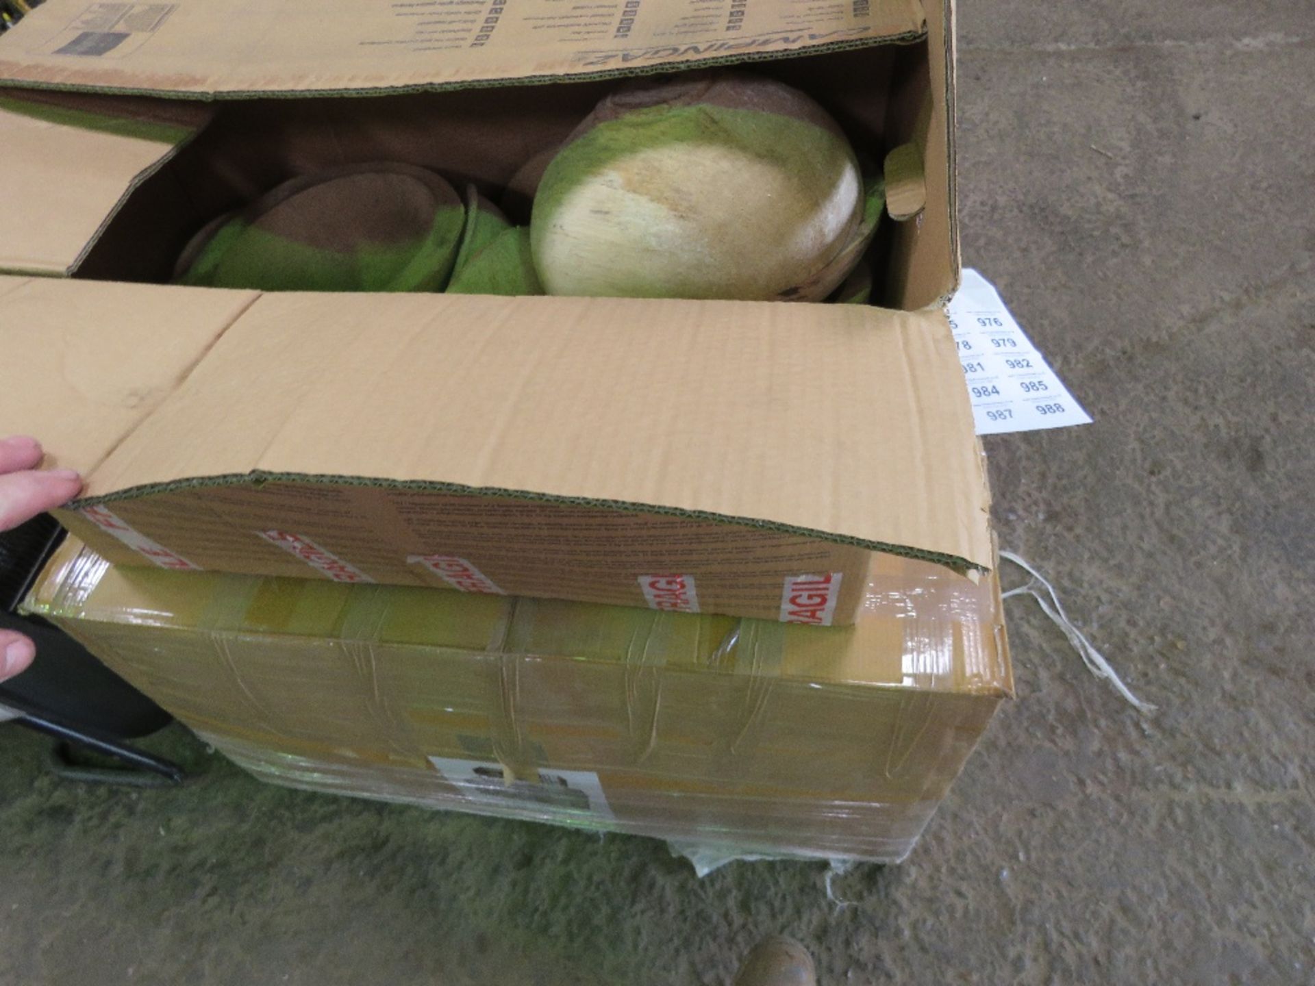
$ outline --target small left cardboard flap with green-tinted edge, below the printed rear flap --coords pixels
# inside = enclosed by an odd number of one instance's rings
[[[128,196],[209,116],[184,103],[0,91],[0,271],[72,273]]]

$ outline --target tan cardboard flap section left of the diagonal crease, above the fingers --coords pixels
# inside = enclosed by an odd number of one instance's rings
[[[0,276],[0,435],[92,472],[256,297],[184,291]]]

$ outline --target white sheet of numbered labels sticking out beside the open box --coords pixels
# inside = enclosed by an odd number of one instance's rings
[[[1091,423],[977,271],[964,270],[948,314],[978,435]]]

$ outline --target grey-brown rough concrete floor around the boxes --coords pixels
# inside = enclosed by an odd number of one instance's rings
[[[988,442],[1018,701],[911,860],[838,878],[259,785],[97,790],[0,728],[3,983],[1315,982],[1315,12],[961,5],[965,262],[1097,418]]]

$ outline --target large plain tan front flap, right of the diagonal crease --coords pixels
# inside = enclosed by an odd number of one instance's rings
[[[940,312],[264,294],[88,494],[360,477],[732,519],[989,568],[961,372]]]

